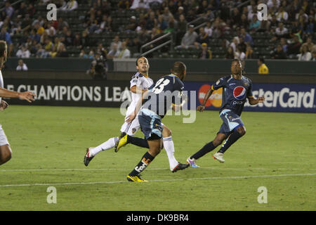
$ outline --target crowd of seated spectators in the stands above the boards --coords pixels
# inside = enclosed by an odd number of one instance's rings
[[[56,4],[58,13],[79,12],[75,19],[82,22],[82,30],[72,29],[65,17],[48,21],[39,15],[37,6],[49,3]],[[258,20],[261,3],[268,6],[268,20]],[[88,9],[79,11],[81,4],[88,4]],[[315,3],[308,0],[27,0],[14,6],[5,1],[3,7],[0,39],[8,43],[8,55],[19,58],[69,57],[70,47],[79,49],[81,58],[96,58],[97,53],[103,58],[130,58],[143,44],[172,32],[175,49],[198,49],[199,58],[212,58],[214,39],[223,58],[258,58],[254,34],[260,33],[272,36],[265,46],[270,58],[316,60]],[[131,10],[129,18],[115,22]],[[205,24],[197,27],[192,21],[199,17]],[[98,41],[87,50],[94,34],[102,37],[109,32],[135,35],[116,35],[111,43]],[[20,39],[13,43],[11,37]]]

